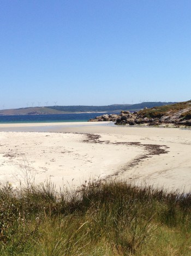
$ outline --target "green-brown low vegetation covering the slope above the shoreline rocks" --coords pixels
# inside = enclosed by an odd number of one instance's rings
[[[176,104],[172,104],[172,105],[164,105],[164,106],[158,106],[158,107],[152,107],[151,109],[144,109],[144,110],[140,110],[138,112],[138,115],[141,115],[143,117],[148,117],[148,118],[160,118],[162,116],[168,116],[169,113],[175,113],[177,111],[186,109],[187,107],[191,107],[191,105],[189,104],[191,103],[191,100],[189,101],[184,101],[181,103],[176,103]],[[186,115],[182,115],[182,117],[184,117]],[[190,111],[186,117],[186,119],[191,118],[190,117]]]

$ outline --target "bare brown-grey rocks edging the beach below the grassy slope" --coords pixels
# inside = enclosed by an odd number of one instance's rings
[[[102,121],[112,121],[116,125],[129,125],[134,126],[136,124],[145,124],[147,126],[160,126],[160,125],[169,125],[172,126],[191,126],[191,116],[186,115],[190,113],[190,109],[184,109],[174,113],[168,112],[165,115],[157,116],[154,118],[149,118],[145,116],[145,113],[141,111],[130,112],[130,111],[121,111],[120,115],[110,114],[97,116],[94,119],[89,120],[89,122],[102,122]]]

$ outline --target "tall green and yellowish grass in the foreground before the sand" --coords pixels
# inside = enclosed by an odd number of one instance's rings
[[[190,255],[191,195],[124,181],[0,187],[1,255]]]

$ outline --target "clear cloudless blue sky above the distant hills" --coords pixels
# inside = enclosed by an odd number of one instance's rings
[[[190,0],[1,0],[0,109],[191,99]]]

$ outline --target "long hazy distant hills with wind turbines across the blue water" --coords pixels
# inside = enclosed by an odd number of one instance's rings
[[[0,115],[52,115],[76,112],[119,112],[121,110],[140,110],[144,107],[154,107],[173,104],[171,102],[144,102],[140,104],[114,104],[108,106],[47,106],[22,107],[20,109],[0,110]]]

